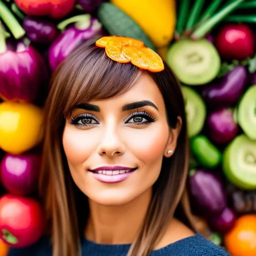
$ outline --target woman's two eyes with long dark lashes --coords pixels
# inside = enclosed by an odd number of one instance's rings
[[[142,125],[149,124],[155,120],[156,118],[146,111],[134,111],[125,118],[124,123]],[[100,121],[91,113],[81,113],[74,117],[70,117],[69,122],[75,126],[85,127],[99,124]]]

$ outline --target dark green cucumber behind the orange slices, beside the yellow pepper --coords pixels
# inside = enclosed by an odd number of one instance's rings
[[[127,36],[138,39],[143,41],[147,47],[155,50],[154,45],[141,27],[112,3],[101,3],[98,7],[97,17],[110,35]]]

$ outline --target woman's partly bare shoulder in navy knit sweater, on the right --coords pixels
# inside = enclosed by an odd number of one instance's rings
[[[168,226],[162,240],[152,256],[230,256],[223,248],[215,245],[199,233],[194,233],[177,219]]]

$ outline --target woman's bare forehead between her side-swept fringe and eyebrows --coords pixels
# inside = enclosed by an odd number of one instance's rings
[[[147,73],[141,74],[136,83],[123,94],[102,100],[91,100],[90,102],[122,104],[139,100],[150,100],[158,107],[164,107],[161,92],[155,81]]]

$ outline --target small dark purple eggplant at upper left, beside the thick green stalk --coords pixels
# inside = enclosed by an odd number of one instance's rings
[[[23,28],[27,37],[36,43],[50,43],[57,35],[57,28],[49,20],[26,16],[23,19]]]

